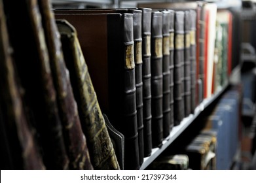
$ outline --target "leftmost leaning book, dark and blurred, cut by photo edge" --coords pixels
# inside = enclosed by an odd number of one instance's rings
[[[1,169],[45,169],[27,120],[6,24],[3,1],[0,1]]]

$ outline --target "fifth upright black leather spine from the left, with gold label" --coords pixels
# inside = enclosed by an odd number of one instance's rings
[[[162,110],[163,110],[163,137],[168,137],[171,131],[170,108],[170,22],[171,14],[167,10],[162,11]]]

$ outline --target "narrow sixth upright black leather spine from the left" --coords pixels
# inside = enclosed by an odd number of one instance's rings
[[[174,18],[175,11],[168,10],[170,12],[170,108],[171,108],[171,119],[170,119],[170,127],[174,126]]]

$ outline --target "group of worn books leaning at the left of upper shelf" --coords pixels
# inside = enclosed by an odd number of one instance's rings
[[[120,169],[73,26],[1,0],[0,29],[1,169]]]

